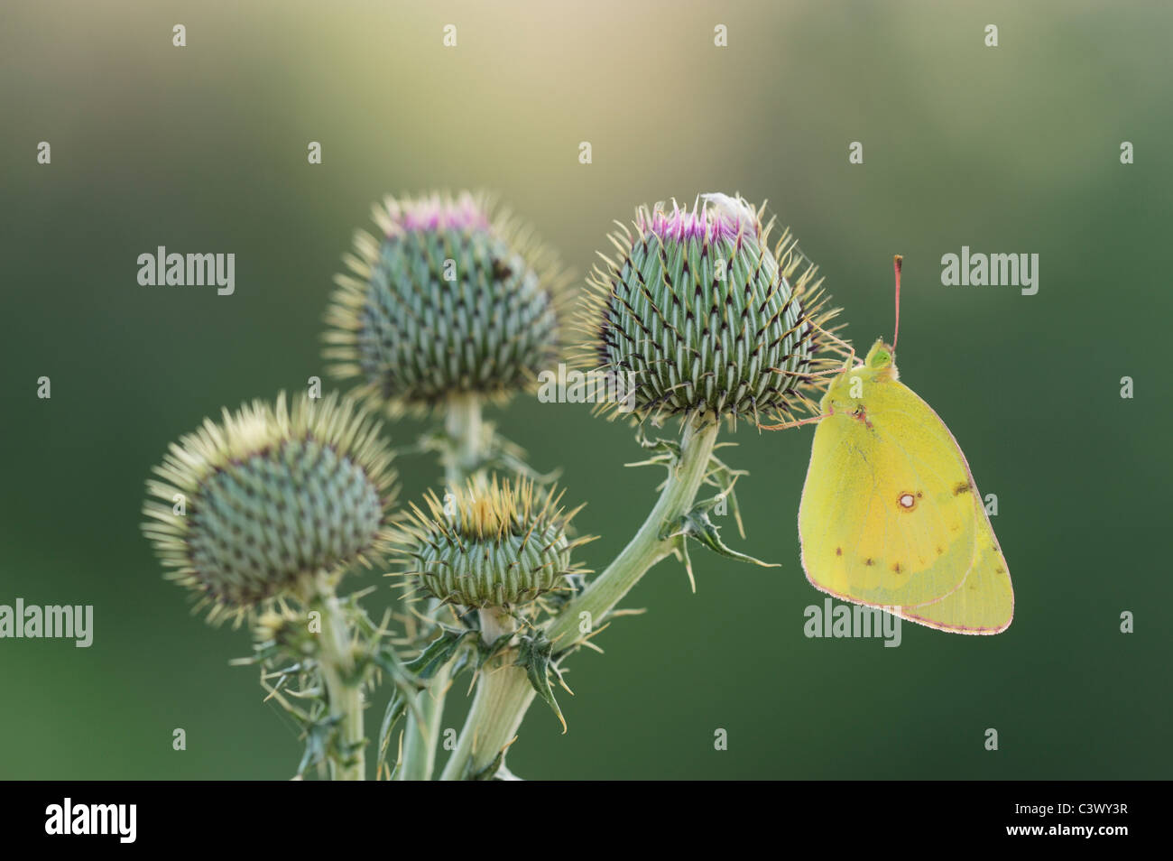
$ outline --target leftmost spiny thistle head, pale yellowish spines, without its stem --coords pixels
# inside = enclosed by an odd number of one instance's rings
[[[198,590],[210,618],[239,615],[305,577],[368,564],[389,537],[391,453],[350,400],[284,393],[172,443],[148,480],[143,533],[168,577]],[[158,500],[162,500],[160,502]]]

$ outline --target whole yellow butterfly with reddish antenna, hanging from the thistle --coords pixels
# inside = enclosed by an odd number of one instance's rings
[[[848,360],[820,413],[799,507],[807,579],[942,631],[1006,630],[1015,595],[982,496],[949,428],[900,381],[894,347]]]

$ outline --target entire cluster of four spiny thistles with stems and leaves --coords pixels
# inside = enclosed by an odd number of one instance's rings
[[[506,752],[530,703],[565,731],[556,691],[569,690],[568,659],[629,612],[618,604],[650,568],[676,556],[692,579],[690,540],[766,564],[731,549],[710,517],[725,501],[737,511],[745,475],[716,456],[718,434],[815,413],[811,395],[842,343],[815,267],[788,232],[769,244],[764,212],[726,195],[640,206],[571,314],[556,257],[484,197],[387,198],[374,208],[379,236],[355,235],[326,312],[324,358],[347,399],[253,405],[172,447],[148,484],[148,537],[215,617],[253,621],[249,663],[305,728],[299,774],[318,764],[365,777],[365,697],[387,679],[377,775],[430,779],[446,697],[469,672],[473,703],[440,777],[511,778]],[[633,466],[666,469],[646,520],[594,578],[579,558],[590,538],[571,523],[581,506],[568,510],[482,418],[567,358],[571,330],[579,368],[631,380],[633,398],[602,409],[636,425],[645,456]],[[443,483],[394,517],[389,449],[368,413],[433,422],[400,453],[436,454]],[[649,435],[665,425],[677,434]],[[703,488],[713,495],[698,500]],[[167,506],[176,494],[185,515]],[[367,591],[340,598],[334,587],[348,565],[385,556],[407,601],[374,624]],[[305,613],[319,609],[316,631]]]

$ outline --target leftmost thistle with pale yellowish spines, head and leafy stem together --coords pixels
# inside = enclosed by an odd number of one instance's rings
[[[339,777],[364,770],[369,678],[355,642],[364,621],[335,588],[347,567],[386,549],[389,463],[378,425],[353,402],[303,395],[290,408],[283,393],[205,420],[147,482],[143,531],[168,576],[195,590],[197,608],[210,605],[211,621],[262,611],[257,663],[301,678],[299,694],[314,700],[298,712],[317,745],[312,762]],[[305,632],[319,636],[294,636]],[[294,669],[274,669],[283,659]]]

